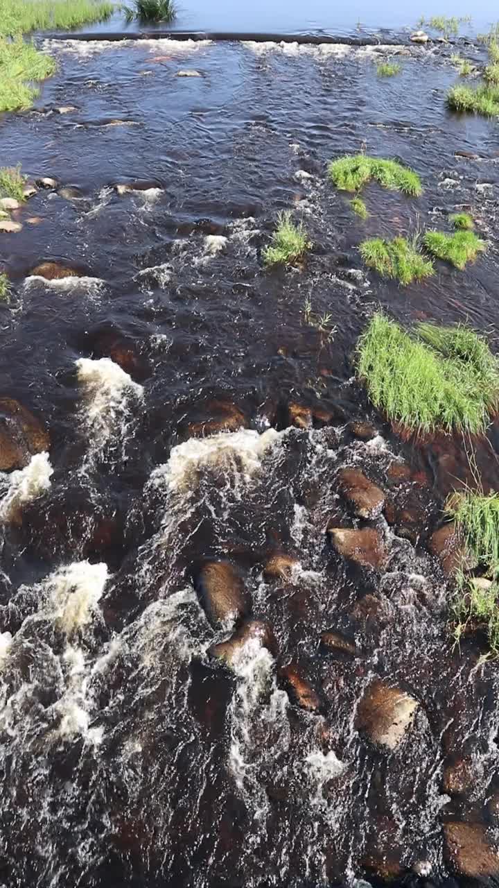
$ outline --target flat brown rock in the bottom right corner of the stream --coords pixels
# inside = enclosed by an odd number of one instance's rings
[[[499,876],[499,854],[482,823],[444,823],[444,857],[460,876]]]

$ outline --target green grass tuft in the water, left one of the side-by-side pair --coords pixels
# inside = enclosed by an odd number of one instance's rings
[[[369,268],[383,277],[393,278],[404,286],[433,274],[432,262],[424,258],[416,242],[405,237],[384,241],[378,237],[360,244],[360,256]]]

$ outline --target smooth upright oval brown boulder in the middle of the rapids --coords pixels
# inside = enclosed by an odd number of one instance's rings
[[[248,614],[249,594],[230,561],[208,561],[197,573],[195,586],[212,626],[234,624]]]

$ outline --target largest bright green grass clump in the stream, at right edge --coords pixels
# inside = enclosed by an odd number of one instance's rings
[[[357,346],[357,373],[374,406],[404,432],[485,434],[499,408],[499,365],[463,326],[408,332],[376,313]]]

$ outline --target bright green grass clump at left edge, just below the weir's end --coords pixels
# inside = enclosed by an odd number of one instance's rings
[[[49,77],[56,68],[55,59],[38,52],[21,36],[12,40],[0,36],[0,112],[31,107],[38,95],[33,83]]]

